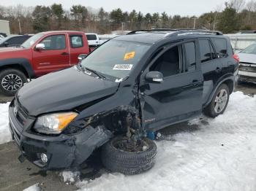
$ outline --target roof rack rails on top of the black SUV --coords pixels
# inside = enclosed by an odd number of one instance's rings
[[[222,35],[222,32],[220,31],[210,31],[207,29],[194,29],[194,28],[155,28],[155,29],[146,29],[146,30],[137,30],[137,31],[131,31],[129,34],[136,34],[136,33],[143,33],[143,32],[176,32],[175,35],[179,34],[216,34],[216,35]],[[171,34],[172,36],[174,34]]]

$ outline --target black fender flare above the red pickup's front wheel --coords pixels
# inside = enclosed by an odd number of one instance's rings
[[[30,79],[35,77],[34,69],[32,68],[32,65],[29,62],[29,60],[26,58],[7,58],[7,59],[0,60],[0,69],[3,66],[12,66],[12,65],[21,66],[29,75]]]

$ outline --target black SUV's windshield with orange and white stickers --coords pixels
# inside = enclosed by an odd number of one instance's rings
[[[149,44],[110,40],[102,44],[81,63],[83,68],[124,79],[149,49]]]

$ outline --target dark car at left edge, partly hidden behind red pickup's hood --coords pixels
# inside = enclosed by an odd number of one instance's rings
[[[17,47],[23,44],[32,35],[10,35],[0,40],[0,47]]]

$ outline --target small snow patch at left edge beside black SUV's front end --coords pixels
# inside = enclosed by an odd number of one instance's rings
[[[8,127],[8,107],[10,103],[0,104],[0,144],[11,141],[12,136]]]

